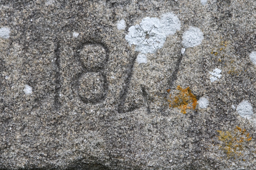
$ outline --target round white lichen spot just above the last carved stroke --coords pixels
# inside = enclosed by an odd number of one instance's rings
[[[182,45],[185,48],[200,45],[204,39],[204,34],[199,28],[190,27],[182,35]]]

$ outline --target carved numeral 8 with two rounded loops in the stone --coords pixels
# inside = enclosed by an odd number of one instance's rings
[[[80,51],[80,61],[85,72],[79,77],[79,97],[88,103],[98,103],[106,96],[106,78],[104,74],[107,50],[101,44],[89,43]]]

